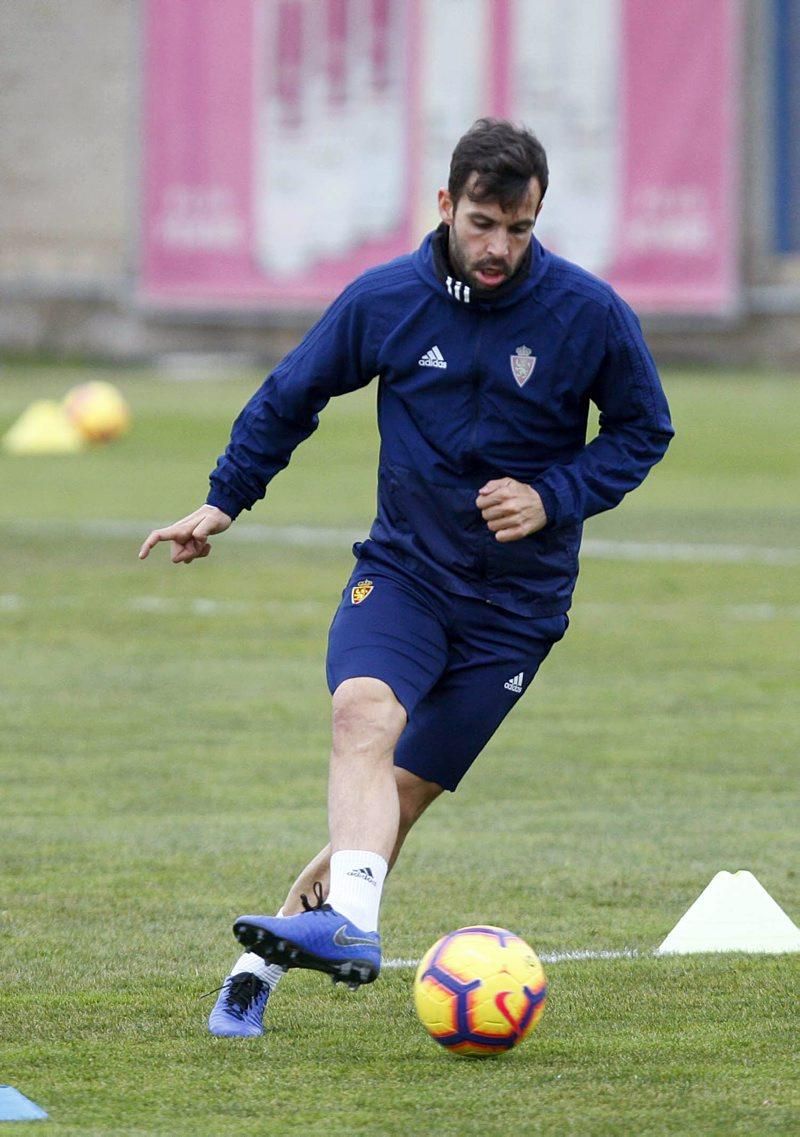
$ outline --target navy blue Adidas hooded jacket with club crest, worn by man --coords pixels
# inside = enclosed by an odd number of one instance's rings
[[[378,376],[377,516],[356,554],[530,616],[568,609],[583,521],[616,506],[673,429],[635,315],[605,282],[532,242],[497,293],[450,275],[442,227],[350,284],[244,407],[208,501],[261,498],[328,399]],[[586,445],[590,402],[600,430]],[[527,482],[547,526],[500,543],[475,498]],[[322,491],[322,487],[320,487]]]

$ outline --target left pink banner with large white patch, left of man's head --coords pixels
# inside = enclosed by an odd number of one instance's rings
[[[144,299],[316,305],[411,248],[415,10],[148,0]]]

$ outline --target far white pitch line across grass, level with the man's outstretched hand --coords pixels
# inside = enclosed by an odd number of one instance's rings
[[[40,521],[17,520],[7,522],[6,533],[20,537],[45,537],[70,533],[95,539],[131,538],[143,540],[149,522],[136,521]],[[277,545],[295,548],[348,548],[364,539],[355,529],[328,529],[315,525],[234,525],[224,537],[226,541],[256,545]],[[800,549],[773,548],[760,545],[703,545],[686,541],[612,541],[588,537],[581,548],[584,557],[602,561],[674,561],[685,564],[763,564],[800,565]]]

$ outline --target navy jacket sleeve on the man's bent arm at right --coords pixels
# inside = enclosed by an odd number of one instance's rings
[[[548,528],[576,524],[612,509],[664,457],[674,434],[639,321],[616,296],[608,313],[606,352],[590,397],[600,410],[597,438],[572,462],[551,466],[533,483]]]

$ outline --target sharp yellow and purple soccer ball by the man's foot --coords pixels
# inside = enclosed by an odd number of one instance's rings
[[[503,1054],[544,1011],[548,985],[533,948],[505,928],[459,928],[423,956],[414,1002],[428,1035],[455,1054]]]

